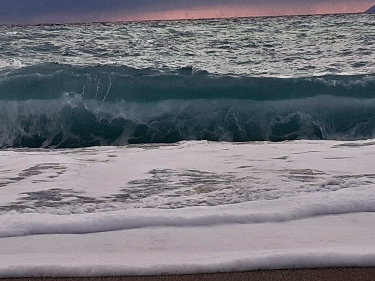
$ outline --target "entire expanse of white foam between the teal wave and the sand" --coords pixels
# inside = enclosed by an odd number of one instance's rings
[[[0,277],[375,266],[374,144],[1,150]]]

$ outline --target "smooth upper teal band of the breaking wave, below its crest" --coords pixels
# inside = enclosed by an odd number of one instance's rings
[[[134,69],[57,63],[0,71],[0,99],[58,99],[63,95],[108,102],[282,100],[319,95],[372,98],[375,97],[375,73],[272,78],[216,75],[193,67]]]

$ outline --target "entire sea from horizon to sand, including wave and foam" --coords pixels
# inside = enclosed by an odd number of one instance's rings
[[[375,266],[375,15],[0,26],[0,277]]]

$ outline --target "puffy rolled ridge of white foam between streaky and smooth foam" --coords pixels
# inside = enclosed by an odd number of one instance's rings
[[[69,212],[64,210],[56,210],[55,214],[17,214],[10,211],[0,217],[3,226],[0,237],[91,233],[148,226],[192,227],[283,222],[350,212],[375,212],[375,185],[369,185],[365,190],[359,191],[341,190],[335,196],[331,193],[307,193],[299,196],[298,200],[295,197],[286,197],[273,201],[177,210],[127,209],[68,216],[65,214]]]

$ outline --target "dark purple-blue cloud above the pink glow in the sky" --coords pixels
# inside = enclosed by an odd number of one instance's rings
[[[154,12],[233,4],[324,4],[332,0],[1,0],[0,24],[105,20],[111,13]],[[357,0],[353,0],[353,5]],[[81,15],[81,17],[80,17]]]

